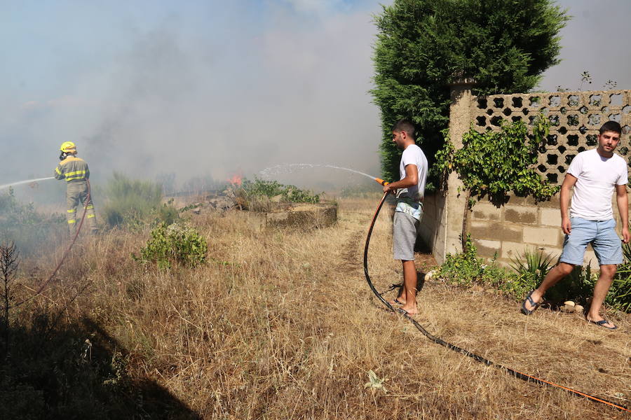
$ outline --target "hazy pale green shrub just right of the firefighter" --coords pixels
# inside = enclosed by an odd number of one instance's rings
[[[170,202],[162,203],[162,186],[151,181],[128,179],[114,172],[104,187],[103,218],[111,226],[142,228],[155,221],[167,224],[178,219],[177,209]]]

